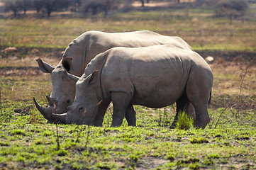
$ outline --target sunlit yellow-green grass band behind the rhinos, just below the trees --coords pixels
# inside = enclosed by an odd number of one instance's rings
[[[256,47],[255,11],[244,21],[213,17],[211,10],[176,9],[117,13],[108,18],[0,19],[0,45],[67,47],[88,30],[124,32],[152,30],[179,36],[195,50],[250,50]]]

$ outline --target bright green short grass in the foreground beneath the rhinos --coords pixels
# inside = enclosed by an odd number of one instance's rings
[[[218,111],[211,113],[213,120],[220,114]],[[42,119],[38,111],[30,114]],[[45,121],[31,122],[30,115],[13,115],[12,108],[4,106],[0,128],[0,167],[256,168],[256,113],[247,115],[252,123],[237,123],[233,114],[227,111],[217,128],[208,126],[206,130],[170,130],[158,125],[157,114],[152,117],[148,113],[138,111],[137,115],[137,127],[124,124],[120,128],[109,128],[109,123],[104,123],[102,128],[89,129],[87,125],[59,125],[60,150],[57,150],[55,125]],[[111,116],[111,113],[108,112],[106,116]],[[108,121],[108,118],[105,121]]]

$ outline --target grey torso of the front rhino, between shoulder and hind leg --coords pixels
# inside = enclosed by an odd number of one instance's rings
[[[168,106],[184,93],[191,55],[200,57],[170,45],[113,48],[102,68],[102,89],[107,96],[112,91],[130,93],[133,103],[143,106]]]

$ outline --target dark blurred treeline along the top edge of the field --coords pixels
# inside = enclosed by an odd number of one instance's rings
[[[136,2],[139,6],[135,7],[133,4]],[[14,17],[21,12],[26,15],[27,11],[36,11],[48,17],[53,11],[70,11],[80,16],[102,13],[106,17],[109,13],[126,12],[133,8],[148,10],[148,4],[157,6],[161,3],[165,3],[161,8],[210,8],[216,16],[227,16],[232,22],[233,18],[245,15],[248,3],[256,3],[256,0],[0,0],[0,11],[11,11]]]

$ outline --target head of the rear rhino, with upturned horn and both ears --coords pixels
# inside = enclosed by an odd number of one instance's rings
[[[74,101],[75,96],[75,79],[79,77],[69,74],[68,71],[72,68],[72,62],[70,57],[62,59],[56,67],[52,67],[50,64],[43,62],[40,59],[36,60],[38,66],[42,72],[50,73],[50,79],[52,82],[52,93],[50,96],[46,96],[48,99],[49,107],[45,108],[35,101],[35,106],[42,114],[50,113],[66,113],[67,107]],[[72,79],[70,79],[72,77]]]

